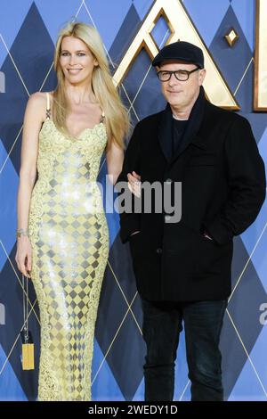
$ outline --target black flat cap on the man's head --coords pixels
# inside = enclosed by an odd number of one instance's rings
[[[190,42],[179,41],[164,46],[154,58],[152,65],[159,65],[160,62],[168,60],[190,62],[196,64],[199,69],[204,69],[202,50],[197,45],[190,44]]]

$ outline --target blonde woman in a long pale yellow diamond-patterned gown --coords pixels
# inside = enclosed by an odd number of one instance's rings
[[[40,308],[38,399],[86,401],[109,254],[96,178],[106,151],[116,182],[129,122],[96,29],[62,29],[54,69],[56,89],[31,94],[25,112],[16,262]]]

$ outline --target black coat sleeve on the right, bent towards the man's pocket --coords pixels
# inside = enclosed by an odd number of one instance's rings
[[[225,140],[228,199],[217,216],[205,224],[215,242],[223,244],[243,233],[257,217],[265,199],[263,159],[247,119],[235,119]]]

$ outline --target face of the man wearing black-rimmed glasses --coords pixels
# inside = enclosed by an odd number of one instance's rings
[[[186,62],[163,62],[160,71],[194,70],[197,66]],[[161,81],[161,90],[166,101],[177,110],[188,108],[196,101],[199,87],[202,85],[206,70],[196,70],[186,81],[180,81],[172,74],[168,81]]]

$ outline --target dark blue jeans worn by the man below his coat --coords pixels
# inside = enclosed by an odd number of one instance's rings
[[[154,302],[142,300],[142,333],[147,345],[145,400],[174,398],[174,365],[184,322],[191,400],[223,400],[219,349],[227,300]]]

